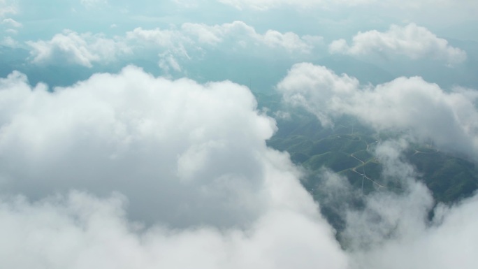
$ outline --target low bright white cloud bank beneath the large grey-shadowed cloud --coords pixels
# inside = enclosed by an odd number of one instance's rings
[[[123,204],[121,196],[98,199],[78,192],[39,203],[3,199],[0,265],[346,268],[345,255],[338,247],[329,248],[320,222],[294,212],[270,212],[247,231],[164,226],[144,230],[124,218]]]

